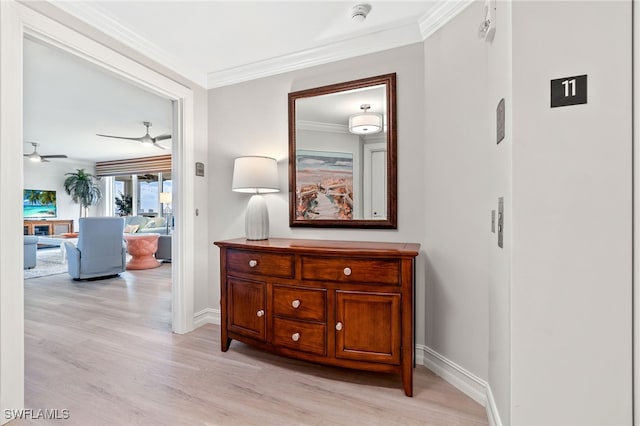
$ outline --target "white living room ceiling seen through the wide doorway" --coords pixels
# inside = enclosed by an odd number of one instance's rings
[[[171,133],[171,101],[116,78],[54,47],[24,43],[24,153],[37,142],[41,155],[106,161],[171,152],[96,133],[141,137]],[[171,139],[161,142],[171,146]],[[64,160],[50,160],[64,161]]]

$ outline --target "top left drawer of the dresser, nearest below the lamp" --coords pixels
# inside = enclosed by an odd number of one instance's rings
[[[293,277],[293,256],[245,250],[227,250],[227,270],[272,277]]]

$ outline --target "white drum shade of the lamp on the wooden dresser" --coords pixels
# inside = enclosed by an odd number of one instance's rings
[[[278,162],[271,157],[236,158],[231,189],[254,194],[280,191]]]

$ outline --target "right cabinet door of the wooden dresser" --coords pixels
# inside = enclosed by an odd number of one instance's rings
[[[336,291],[336,358],[400,363],[400,294]]]

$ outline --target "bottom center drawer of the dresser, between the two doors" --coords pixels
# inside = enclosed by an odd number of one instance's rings
[[[274,318],[272,342],[276,346],[326,355],[326,330],[324,324]]]

